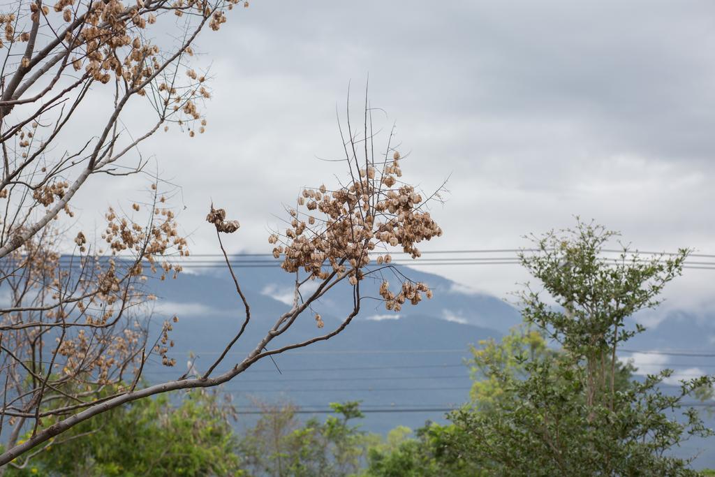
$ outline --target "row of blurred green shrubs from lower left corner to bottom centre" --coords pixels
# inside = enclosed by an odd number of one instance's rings
[[[74,427],[6,476],[355,474],[378,438],[350,422],[363,417],[358,402],[330,407],[325,421],[300,423],[292,405],[262,405],[256,425],[236,436],[228,421],[235,411],[215,394],[193,391],[179,405],[165,395],[138,400]]]

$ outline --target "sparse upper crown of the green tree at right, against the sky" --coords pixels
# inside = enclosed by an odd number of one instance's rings
[[[578,221],[576,230],[532,237],[533,255],[520,255],[523,267],[541,281],[558,308],[539,292],[523,292],[522,314],[570,353],[591,358],[643,330],[625,329],[626,318],[661,303],[663,287],[679,276],[688,250],[675,257],[644,259],[627,247],[615,259],[603,258],[603,245],[618,234]]]

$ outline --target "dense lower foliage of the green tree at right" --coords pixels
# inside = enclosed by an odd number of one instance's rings
[[[464,439],[450,442],[498,475],[691,475],[688,461],[664,456],[688,434],[708,436],[694,410],[676,421],[676,396],[656,387],[659,376],[618,391],[613,409],[586,405],[583,370],[566,360],[526,366],[529,376],[503,378],[506,390],[490,412],[465,408],[451,416]]]

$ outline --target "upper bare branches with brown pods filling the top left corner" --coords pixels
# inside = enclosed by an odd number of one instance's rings
[[[71,198],[90,177],[141,170],[141,159],[132,167],[120,159],[162,125],[177,122],[191,136],[198,124],[203,131],[197,102],[209,91],[187,58],[204,26],[219,29],[225,9],[236,3],[59,0],[52,9],[40,0],[9,4],[13,11],[0,16],[5,33],[0,194],[7,203],[0,257],[63,210],[71,214]],[[162,30],[168,37],[164,42]],[[158,40],[149,39],[155,35]],[[153,125],[137,132],[142,124],[136,110],[122,118],[142,97],[155,117]],[[108,114],[88,118],[87,108],[97,100],[106,103]],[[82,139],[73,140],[78,124]]]

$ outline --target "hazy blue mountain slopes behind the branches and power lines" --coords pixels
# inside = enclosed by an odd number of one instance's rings
[[[416,307],[405,305],[395,315],[377,302],[365,300],[359,317],[344,333],[276,357],[278,373],[270,360],[263,360],[223,388],[232,393],[240,408],[252,408],[254,400],[290,401],[307,409],[325,409],[327,403],[362,400],[370,412],[364,426],[368,431],[386,432],[398,425],[417,427],[426,420],[442,420],[441,408],[450,408],[468,398],[470,380],[463,359],[470,344],[485,338],[498,339],[508,328],[521,323],[518,311],[498,298],[463,292],[464,287],[432,275],[405,269],[414,280],[427,282],[435,290],[432,300]],[[292,276],[277,267],[236,269],[252,306],[252,323],[244,338],[231,351],[223,368],[240,360],[262,337],[280,314],[290,308]],[[397,283],[395,277],[386,277]],[[363,295],[376,296],[378,281],[363,283]],[[159,295],[157,315],[177,313],[172,338],[177,346],[172,356],[177,368],[170,370],[149,363],[150,380],[177,376],[187,369],[189,351],[198,355],[196,367],[205,370],[233,335],[243,319],[243,306],[225,269],[182,274],[177,280],[149,282]],[[310,286],[303,292],[310,292]],[[337,325],[349,312],[352,295],[348,287],[337,287],[315,310],[325,319],[325,329]],[[399,316],[399,318],[398,318]],[[157,325],[160,320],[157,320]],[[305,340],[321,330],[312,315],[305,315],[290,334],[277,338],[272,348]],[[630,350],[712,348],[715,320],[689,313],[671,313],[666,320],[628,343]],[[685,373],[707,373],[715,362],[707,357],[678,357],[656,354],[619,353],[636,358],[641,373],[654,373],[670,366]],[[690,369],[690,368],[692,369]],[[222,368],[220,368],[222,369]],[[430,408],[426,412],[405,409]],[[252,423],[245,415],[242,423]],[[713,424],[713,423],[711,423]],[[708,443],[690,441],[678,452],[693,455],[705,451],[698,466],[715,466],[715,453]]]

